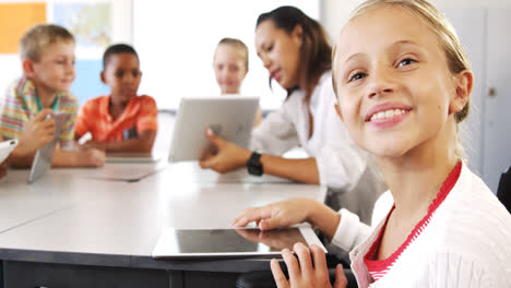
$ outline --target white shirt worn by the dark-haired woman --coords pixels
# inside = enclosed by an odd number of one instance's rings
[[[368,168],[368,154],[354,143],[335,111],[331,71],[321,75],[310,97],[309,109],[314,125],[310,139],[304,97],[304,91],[293,92],[278,110],[263,119],[252,132],[250,149],[282,155],[301,146],[316,158],[320,184],[338,190],[343,207],[368,223],[376,199],[385,189]]]

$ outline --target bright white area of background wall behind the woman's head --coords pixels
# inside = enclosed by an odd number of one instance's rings
[[[133,43],[140,55],[141,94],[156,98],[158,108],[177,108],[183,96],[218,95],[213,55],[223,37],[241,39],[249,49],[249,72],[241,94],[260,96],[263,109],[275,109],[285,98],[278,84],[269,87],[269,74],[254,48],[259,14],[293,4],[319,19],[312,0],[134,0]],[[156,34],[158,36],[156,36]]]

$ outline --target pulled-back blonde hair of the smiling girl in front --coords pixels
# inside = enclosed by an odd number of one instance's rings
[[[445,52],[448,67],[452,74],[457,74],[464,70],[472,70],[471,61],[452,24],[444,14],[425,0],[367,0],[355,9],[349,21],[383,5],[396,5],[418,15],[431,32],[437,35],[440,47]],[[465,107],[454,115],[457,123],[466,119],[468,110],[470,99]]]

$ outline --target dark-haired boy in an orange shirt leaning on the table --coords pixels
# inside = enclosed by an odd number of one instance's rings
[[[155,100],[138,96],[142,72],[139,56],[129,45],[108,47],[103,56],[102,82],[110,95],[87,100],[79,112],[76,139],[85,133],[84,145],[107,152],[151,152],[157,131]]]

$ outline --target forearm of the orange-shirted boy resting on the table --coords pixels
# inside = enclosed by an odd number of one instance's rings
[[[95,142],[88,141],[85,147],[94,147],[106,152],[151,152],[156,137],[156,131],[143,131],[139,137],[120,142]]]

